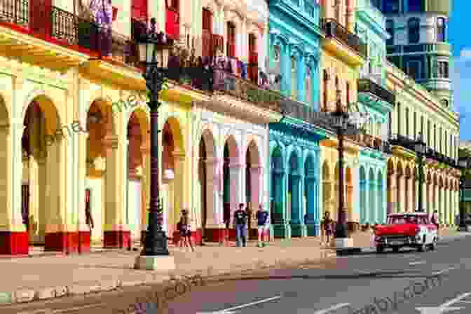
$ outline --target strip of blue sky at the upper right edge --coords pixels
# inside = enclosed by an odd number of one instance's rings
[[[471,38],[466,34],[470,18],[471,1],[453,0],[453,12],[449,20],[449,41],[453,45],[451,81],[454,90],[455,109],[460,113],[460,140],[471,140]]]

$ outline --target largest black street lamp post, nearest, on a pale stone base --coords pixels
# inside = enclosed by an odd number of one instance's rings
[[[135,264],[135,268],[138,269],[175,269],[175,261],[168,252],[167,235],[162,228],[163,208],[158,179],[158,108],[161,106],[158,96],[167,76],[167,69],[163,66],[165,53],[168,53],[169,49],[165,34],[162,32],[157,34],[156,19],[152,18],[150,31],[139,41],[139,62],[146,66],[144,79],[150,91],[148,105],[151,109],[151,196],[144,249]],[[161,60],[157,60],[157,55]]]

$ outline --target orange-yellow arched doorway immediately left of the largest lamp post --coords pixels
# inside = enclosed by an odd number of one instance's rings
[[[145,231],[146,165],[149,156],[149,124],[146,112],[136,109],[128,121],[128,208],[131,238],[138,240]]]

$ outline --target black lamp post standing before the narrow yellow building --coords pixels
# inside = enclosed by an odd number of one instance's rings
[[[346,112],[341,104],[341,91],[337,90],[337,104],[336,111],[332,114],[336,117],[336,123],[334,126],[337,131],[337,136],[339,138],[339,208],[338,208],[338,219],[335,228],[335,238],[336,239],[346,239],[348,238],[348,228],[347,228],[347,210],[345,207],[344,199],[344,175],[343,175],[343,136],[346,133],[348,128],[348,112]]]

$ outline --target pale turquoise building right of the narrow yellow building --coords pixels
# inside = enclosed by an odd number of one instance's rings
[[[395,96],[385,87],[386,32],[383,13],[371,0],[358,0],[355,31],[369,47],[368,60],[360,69],[358,105],[369,114],[365,134],[357,140],[365,146],[359,154],[360,224],[381,224],[386,217],[387,142]]]

